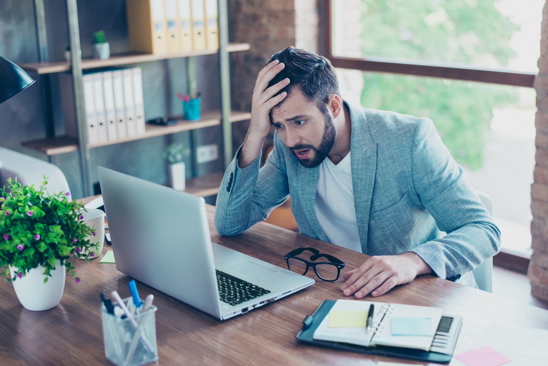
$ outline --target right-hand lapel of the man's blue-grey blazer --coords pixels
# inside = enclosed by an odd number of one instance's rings
[[[350,110],[352,134],[350,153],[352,158],[352,191],[354,209],[358,224],[359,241],[362,253],[367,254],[367,235],[369,229],[369,212],[375,184],[377,150],[371,137],[367,117],[363,110],[353,108],[344,102]]]

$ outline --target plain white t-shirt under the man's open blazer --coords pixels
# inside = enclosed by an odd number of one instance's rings
[[[330,243],[362,252],[354,209],[350,153],[337,165],[326,157],[319,166],[314,208]]]

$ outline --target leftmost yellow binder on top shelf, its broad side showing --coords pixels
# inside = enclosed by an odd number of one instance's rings
[[[129,47],[138,52],[166,54],[163,0],[127,0]]]

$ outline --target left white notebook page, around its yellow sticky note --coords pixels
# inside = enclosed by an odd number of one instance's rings
[[[337,300],[331,311],[369,311],[369,306],[375,306],[373,314],[373,323],[380,322],[383,318],[383,313],[380,312],[384,302],[358,301],[358,300]],[[312,336],[313,339],[332,342],[344,342],[358,346],[369,346],[373,331],[367,332],[366,328],[329,328],[329,314],[323,318],[318,329]],[[374,328],[374,327],[373,327]]]

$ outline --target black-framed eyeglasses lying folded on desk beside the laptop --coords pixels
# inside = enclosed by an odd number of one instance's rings
[[[302,258],[297,258],[299,254],[305,250],[310,251],[313,255],[310,257],[311,261],[315,261],[319,258],[326,258],[329,262],[309,262]],[[341,268],[344,268],[344,262],[339,258],[330,256],[329,254],[320,253],[319,250],[310,246],[304,246],[299,249],[295,249],[286,254],[287,268],[289,271],[305,275],[309,268],[314,268],[314,272],[324,281],[336,281],[339,279]]]

